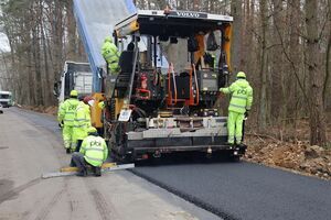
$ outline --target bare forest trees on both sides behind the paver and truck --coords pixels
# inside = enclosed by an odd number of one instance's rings
[[[65,61],[86,62],[72,0],[1,0],[0,84],[18,103],[54,106],[53,84]],[[330,147],[331,0],[135,0],[140,9],[234,16],[232,66],[254,88],[249,131]],[[329,120],[329,121],[328,121]],[[303,122],[303,123],[302,123]],[[307,138],[307,135],[306,135]],[[330,138],[329,138],[330,140]]]

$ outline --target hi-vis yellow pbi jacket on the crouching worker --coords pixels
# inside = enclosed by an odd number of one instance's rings
[[[85,161],[93,166],[102,166],[108,156],[105,140],[94,135],[84,139],[79,152],[84,154]]]

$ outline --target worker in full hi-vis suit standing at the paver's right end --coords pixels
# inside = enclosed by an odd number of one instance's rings
[[[242,144],[243,139],[243,121],[248,112],[253,102],[253,88],[246,80],[244,72],[237,74],[237,79],[227,88],[221,88],[221,92],[232,94],[228,106],[227,131],[229,144]]]

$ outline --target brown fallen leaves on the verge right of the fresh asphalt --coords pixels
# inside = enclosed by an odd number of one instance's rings
[[[303,142],[287,143],[277,140],[249,136],[244,158],[254,163],[297,170],[331,179],[331,150]]]

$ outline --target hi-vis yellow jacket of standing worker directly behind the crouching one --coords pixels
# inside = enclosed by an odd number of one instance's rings
[[[84,140],[87,136],[87,129],[90,127],[89,106],[79,101],[74,118],[74,136]]]

